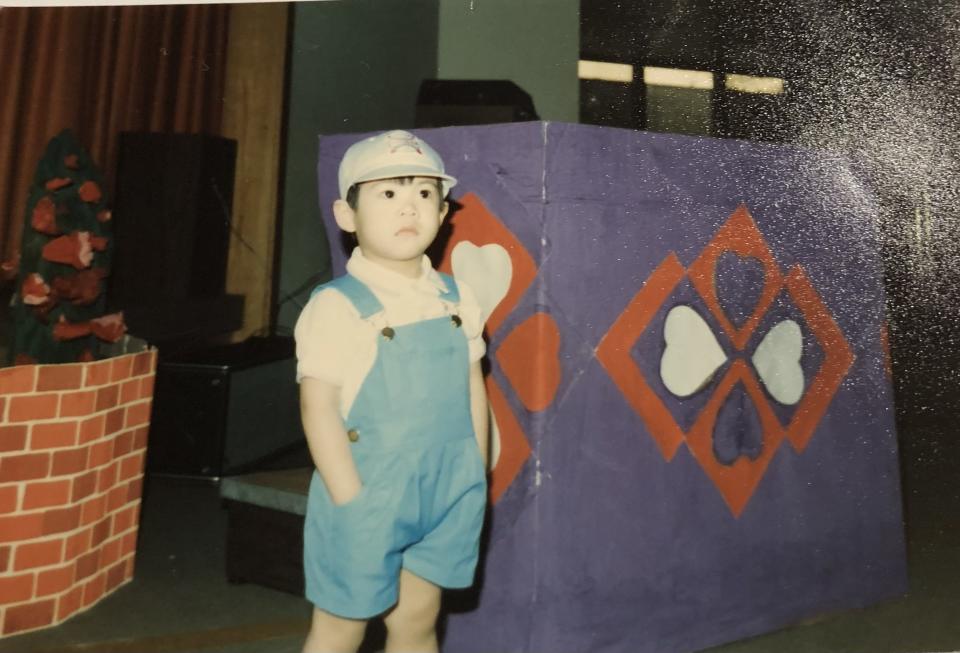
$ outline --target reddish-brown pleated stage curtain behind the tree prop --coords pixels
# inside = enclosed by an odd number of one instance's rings
[[[0,8],[0,262],[62,129],[111,198],[121,131],[220,133],[228,22],[229,5]]]

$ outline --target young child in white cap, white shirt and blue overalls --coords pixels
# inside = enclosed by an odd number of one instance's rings
[[[316,465],[304,527],[304,653],[356,651],[383,615],[388,653],[437,650],[441,587],[473,583],[486,506],[480,307],[424,251],[456,179],[404,131],[340,163],[347,274],[297,321],[303,426]]]

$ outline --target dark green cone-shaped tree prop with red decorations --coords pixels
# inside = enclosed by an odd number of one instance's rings
[[[93,360],[123,315],[104,315],[110,210],[103,176],[64,130],[47,144],[27,202],[14,306],[14,364]]]

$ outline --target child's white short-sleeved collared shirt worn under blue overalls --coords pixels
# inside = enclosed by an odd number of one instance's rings
[[[297,319],[297,382],[311,377],[340,386],[340,413],[344,418],[376,360],[380,330],[387,325],[399,327],[450,312],[440,299],[446,285],[426,255],[420,265],[422,273],[411,279],[367,260],[357,247],[347,261],[347,272],[373,292],[384,310],[361,319],[349,299],[326,288],[310,298]],[[480,305],[465,283],[458,280],[457,289],[457,315],[462,320],[472,363],[486,352]]]

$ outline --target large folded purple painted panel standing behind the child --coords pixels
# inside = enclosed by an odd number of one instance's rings
[[[482,198],[538,266],[489,348],[532,455],[491,511],[477,587],[451,597],[445,651],[689,651],[905,591],[875,211],[846,162],[557,123],[418,133],[460,180],[453,197]],[[337,164],[357,138],[320,142],[320,205],[333,235]],[[674,252],[689,266],[740,205],[784,273],[803,267],[855,358],[808,446],[781,442],[735,516],[686,446],[665,460],[595,351],[661,261]],[[331,242],[339,273],[344,251]],[[725,255],[716,275],[728,314],[749,312],[762,270]],[[710,388],[678,399],[659,382],[663,321],[679,303],[735,352],[687,278],[635,342],[638,369],[686,430]],[[537,311],[560,332],[562,377],[553,402],[532,412],[496,353]],[[744,351],[784,318],[801,325],[809,380],[825,354],[785,293]],[[757,436],[744,401],[734,393],[720,411],[721,442]],[[782,423],[796,410],[769,403]]]

